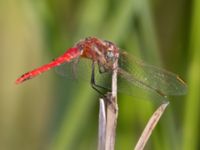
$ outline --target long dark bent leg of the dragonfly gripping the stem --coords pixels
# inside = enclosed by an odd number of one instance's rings
[[[105,96],[105,94],[103,94],[98,88],[110,91],[110,89],[108,89],[106,87],[103,87],[101,85],[96,84],[96,82],[95,82],[95,63],[94,62],[92,62],[92,74],[91,74],[91,81],[90,81],[90,83],[91,83],[92,88],[95,91],[97,91],[99,94],[103,95],[103,96]]]

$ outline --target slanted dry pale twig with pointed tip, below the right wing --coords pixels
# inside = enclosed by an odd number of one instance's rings
[[[151,118],[149,119],[145,129],[142,132],[142,135],[140,136],[140,139],[138,140],[134,150],[143,150],[144,146],[146,145],[153,129],[157,125],[160,117],[164,113],[166,107],[168,106],[169,102],[161,104],[158,109],[153,113]]]

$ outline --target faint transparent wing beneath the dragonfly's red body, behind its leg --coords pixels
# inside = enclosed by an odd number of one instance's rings
[[[74,80],[78,83],[84,82],[90,85],[92,61],[85,58],[75,59],[69,63],[61,64],[55,68],[55,71],[67,80]],[[111,74],[109,72],[100,73],[98,65],[95,64],[95,81],[96,84],[110,89]]]

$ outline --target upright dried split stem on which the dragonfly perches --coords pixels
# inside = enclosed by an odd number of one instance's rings
[[[113,68],[118,67],[118,60],[114,62]],[[117,69],[113,69],[112,73],[112,92],[107,93],[107,97],[100,99],[100,112],[99,112],[99,143],[98,150],[114,150],[115,148],[115,135],[118,117],[118,104],[117,104]],[[104,105],[106,106],[105,111]],[[106,122],[104,122],[104,112],[106,112]],[[103,140],[105,139],[105,141]]]

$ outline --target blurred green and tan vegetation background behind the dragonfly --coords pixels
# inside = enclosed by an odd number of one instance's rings
[[[99,95],[89,83],[49,71],[14,84],[87,36],[178,73],[188,94],[172,98],[146,149],[200,149],[199,0],[0,1],[0,149],[96,149]],[[125,94],[118,101],[116,149],[130,150],[156,106]]]

